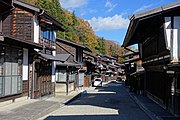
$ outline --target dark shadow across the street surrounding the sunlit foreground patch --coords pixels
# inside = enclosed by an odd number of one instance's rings
[[[146,120],[148,119],[140,110],[139,106],[130,98],[121,84],[110,82],[103,87],[77,98],[67,106],[89,105],[101,108],[114,109],[116,114],[104,115],[68,115],[49,116],[46,120]],[[83,111],[83,109],[82,109]],[[86,111],[88,111],[86,109]],[[142,115],[143,114],[143,115]]]

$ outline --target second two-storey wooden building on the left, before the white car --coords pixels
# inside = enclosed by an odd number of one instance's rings
[[[56,39],[56,54],[69,55],[66,57],[66,63],[57,64],[56,67],[56,75],[59,75],[59,77],[56,77],[56,88],[59,89],[58,86],[62,87],[62,84],[64,84],[66,94],[76,88],[84,87],[84,77],[87,67],[83,64],[83,51],[91,52],[86,46],[69,40]]]

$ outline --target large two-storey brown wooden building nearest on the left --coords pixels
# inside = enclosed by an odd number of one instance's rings
[[[62,25],[18,0],[0,1],[0,12],[0,101],[53,93],[55,30]]]

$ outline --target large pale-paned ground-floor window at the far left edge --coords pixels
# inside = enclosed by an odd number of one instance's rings
[[[0,96],[21,93],[21,48],[0,45]]]

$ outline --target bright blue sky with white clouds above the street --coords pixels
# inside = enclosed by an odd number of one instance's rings
[[[129,16],[177,0],[59,0],[62,8],[88,20],[95,34],[122,44]]]

